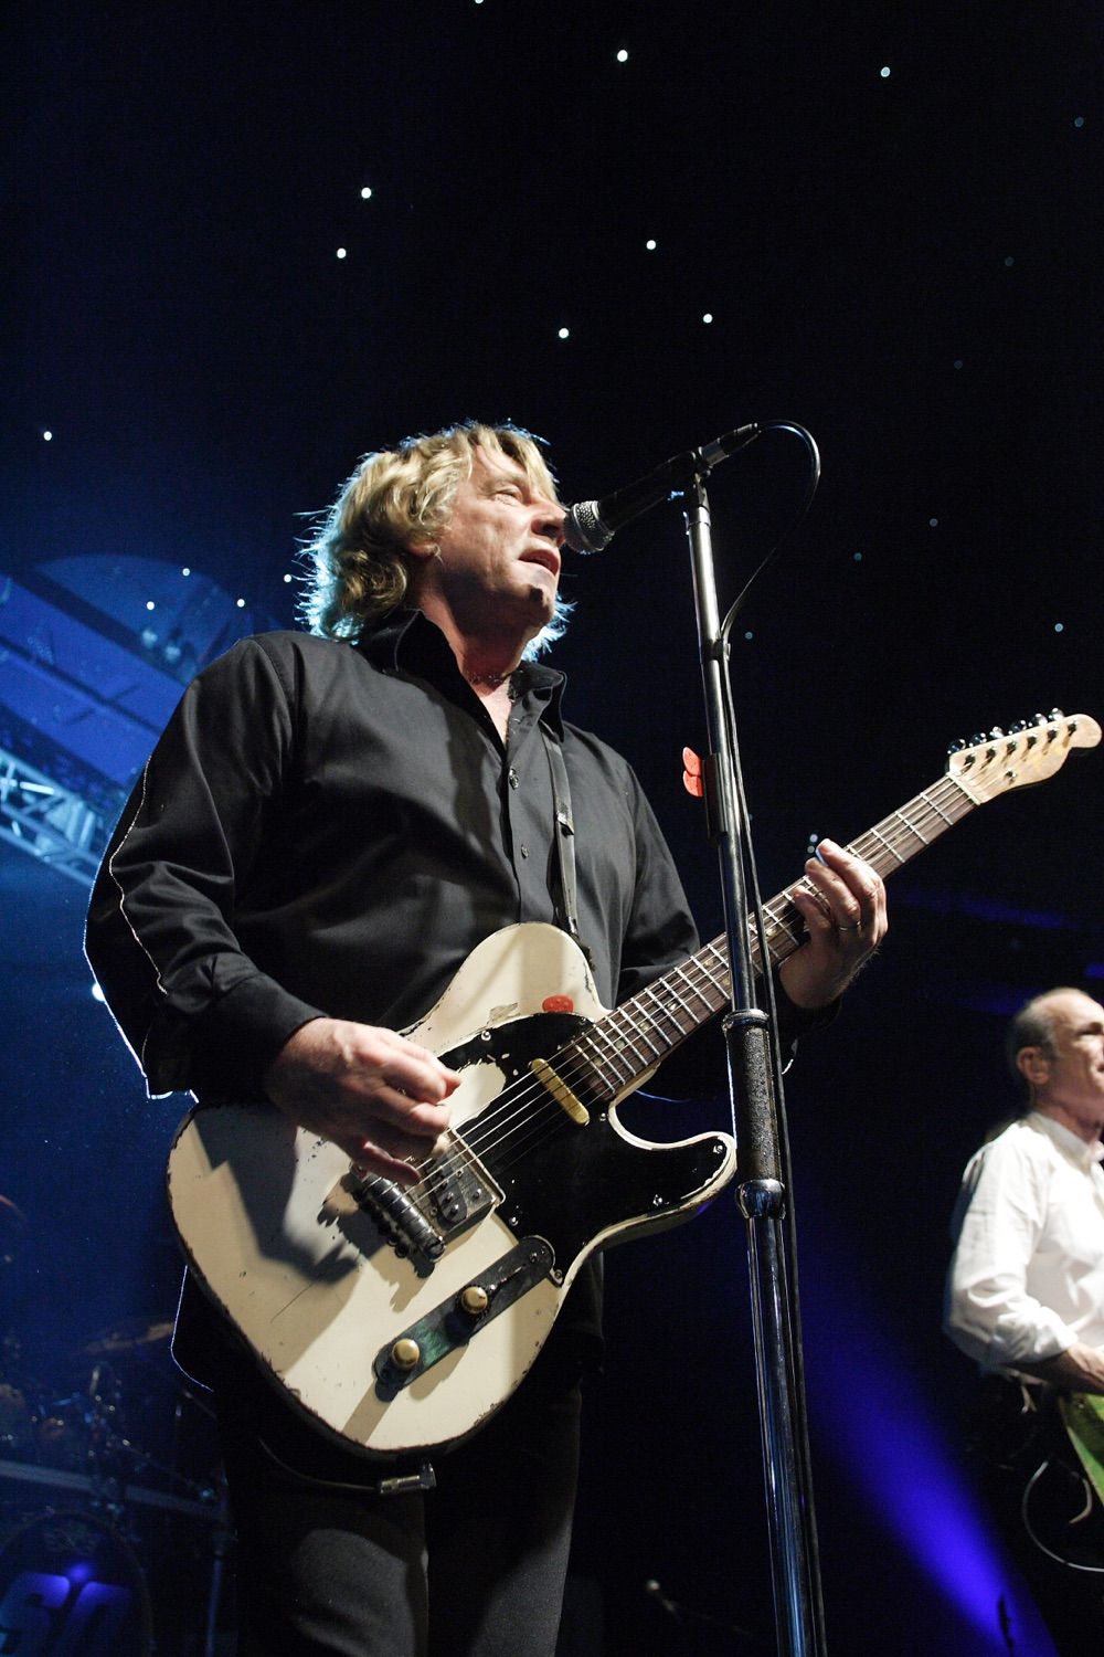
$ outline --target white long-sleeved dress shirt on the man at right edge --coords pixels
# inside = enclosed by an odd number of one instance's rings
[[[1102,1158],[1036,1110],[970,1158],[943,1329],[983,1369],[1104,1347]]]

